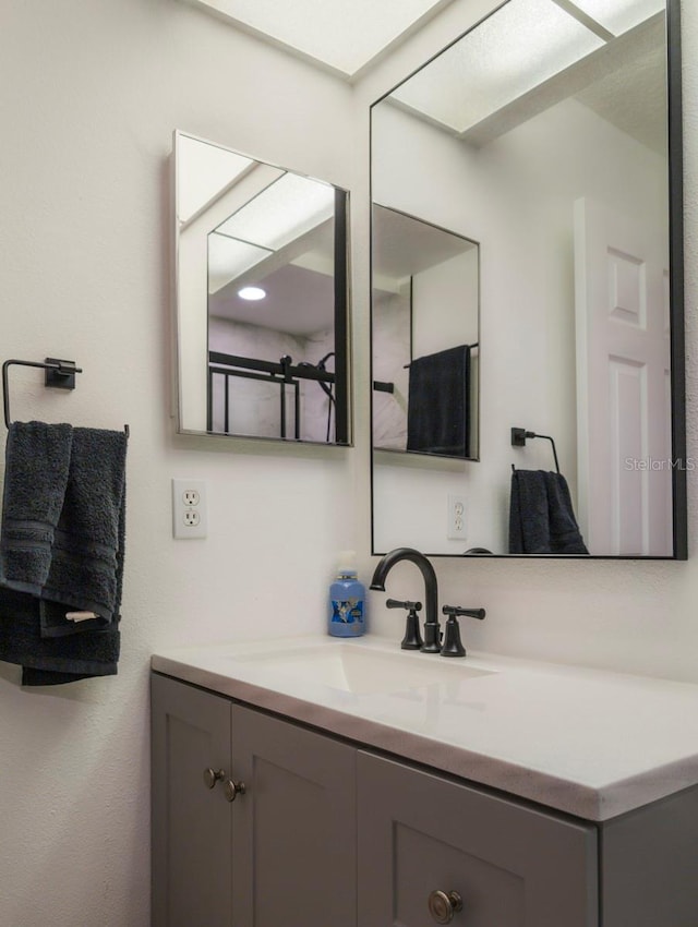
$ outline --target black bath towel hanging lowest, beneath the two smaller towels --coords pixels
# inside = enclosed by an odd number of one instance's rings
[[[23,666],[23,685],[56,685],[117,673],[118,623],[70,637],[41,637],[39,600],[0,587],[0,660]]]

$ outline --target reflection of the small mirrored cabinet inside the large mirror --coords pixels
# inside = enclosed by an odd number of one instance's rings
[[[373,205],[373,446],[477,458],[478,244]]]

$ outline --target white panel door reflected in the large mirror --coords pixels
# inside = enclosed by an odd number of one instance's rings
[[[592,554],[672,542],[667,239],[575,203],[579,520]]]

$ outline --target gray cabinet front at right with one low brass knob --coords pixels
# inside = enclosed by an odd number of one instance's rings
[[[593,827],[363,753],[358,804],[360,925],[446,923],[435,891],[462,927],[597,925]]]

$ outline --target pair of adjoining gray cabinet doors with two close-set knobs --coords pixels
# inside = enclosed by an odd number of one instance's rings
[[[356,927],[353,747],[157,674],[152,729],[154,927]]]

